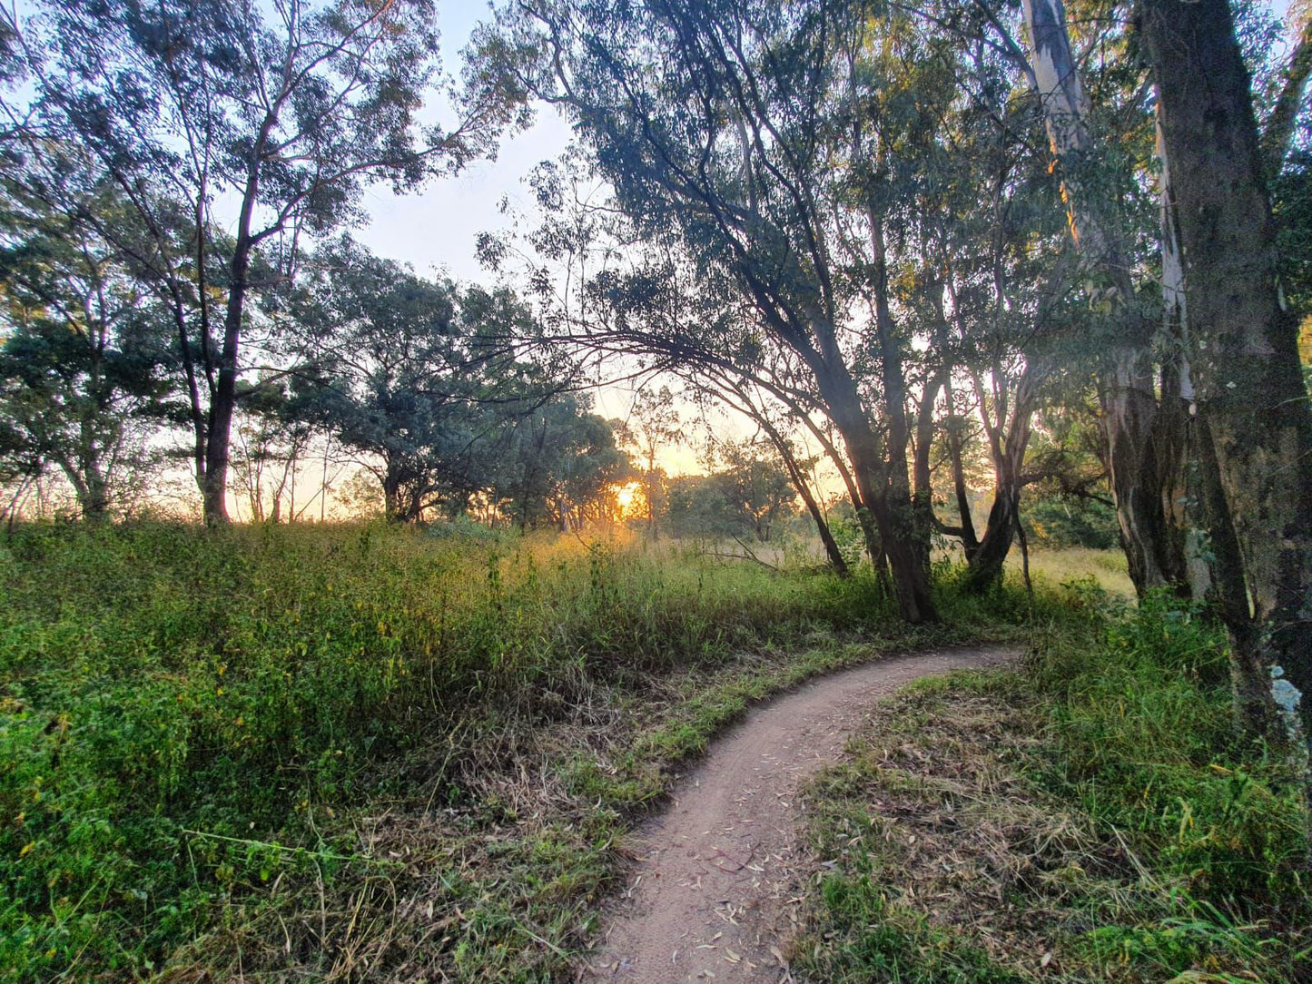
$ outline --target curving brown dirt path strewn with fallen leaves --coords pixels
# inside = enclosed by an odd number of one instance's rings
[[[938,649],[867,663],[762,705],[718,740],[634,837],[640,861],[606,913],[606,938],[580,980],[762,984],[791,980],[783,946],[798,899],[794,796],[833,762],[878,697],[932,673],[1014,653]]]

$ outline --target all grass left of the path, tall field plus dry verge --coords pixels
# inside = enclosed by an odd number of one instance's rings
[[[0,590],[14,981],[559,977],[748,703],[1015,631],[950,593],[908,628],[867,577],[379,526],[20,527]]]

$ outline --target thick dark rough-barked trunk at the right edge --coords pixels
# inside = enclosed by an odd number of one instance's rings
[[[1249,76],[1227,0],[1143,0],[1141,9],[1178,206],[1194,386],[1250,600],[1252,614],[1227,611],[1236,673],[1244,693],[1266,694],[1249,727],[1275,737],[1279,720],[1279,736],[1298,743],[1300,731],[1312,736],[1312,411],[1298,321],[1277,279]]]

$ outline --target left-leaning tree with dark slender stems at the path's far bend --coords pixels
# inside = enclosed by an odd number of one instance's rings
[[[918,622],[935,610],[907,462],[908,340],[887,303],[887,197],[870,193],[884,189],[879,134],[857,98],[871,13],[840,0],[530,0],[482,50],[565,108],[639,234],[676,231],[698,276],[752,308],[757,350],[804,366],[901,614]],[[854,189],[846,173],[867,164]],[[854,369],[867,356],[880,379],[863,392]]]

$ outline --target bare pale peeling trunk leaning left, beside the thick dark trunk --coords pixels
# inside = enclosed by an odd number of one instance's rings
[[[1143,594],[1178,580],[1168,548],[1169,518],[1162,512],[1153,429],[1151,327],[1135,304],[1134,282],[1123,251],[1106,222],[1106,206],[1090,186],[1097,146],[1089,133],[1089,108],[1071,52],[1061,0],[1025,0],[1025,22],[1034,49],[1034,77],[1052,156],[1061,165],[1061,194],[1071,237],[1106,281],[1117,337],[1102,371],[1099,400],[1107,434],[1107,470],[1120,522],[1130,576]]]

